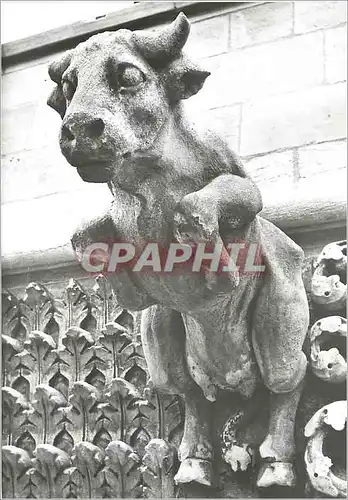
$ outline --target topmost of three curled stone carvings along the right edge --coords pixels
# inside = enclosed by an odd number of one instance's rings
[[[316,262],[312,278],[312,299],[328,311],[344,309],[346,285],[347,242],[326,245]]]

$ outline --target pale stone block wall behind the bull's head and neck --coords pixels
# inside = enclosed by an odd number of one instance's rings
[[[303,193],[341,196],[346,2],[226,2],[189,17],[187,51],[212,74],[187,107],[243,157],[266,206],[284,196],[295,203]],[[5,256],[66,244],[83,217],[110,202],[106,186],[83,183],[59,152],[60,118],[46,105],[54,57],[10,66],[3,75]]]

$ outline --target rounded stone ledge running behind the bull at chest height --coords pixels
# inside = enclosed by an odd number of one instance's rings
[[[262,216],[290,236],[345,227],[347,202],[343,191],[338,192],[335,198],[330,194],[308,198],[300,190],[296,198],[285,199],[285,196],[286,194],[282,201],[269,202],[262,211]],[[63,270],[74,264],[76,265],[74,252],[70,243],[65,242],[54,248],[4,255],[2,274],[7,279],[28,272]]]

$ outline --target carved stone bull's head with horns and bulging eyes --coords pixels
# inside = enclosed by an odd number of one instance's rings
[[[189,30],[181,13],[158,33],[101,33],[50,65],[61,151],[83,180],[106,182],[124,158],[151,151],[178,102],[202,88],[209,72],[182,53]]]

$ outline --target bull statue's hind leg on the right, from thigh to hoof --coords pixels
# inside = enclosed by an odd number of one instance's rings
[[[302,345],[308,328],[308,303],[300,270],[276,280],[265,277],[253,318],[253,347],[265,385],[271,392],[264,460],[258,486],[294,486],[294,425],[307,360]]]

